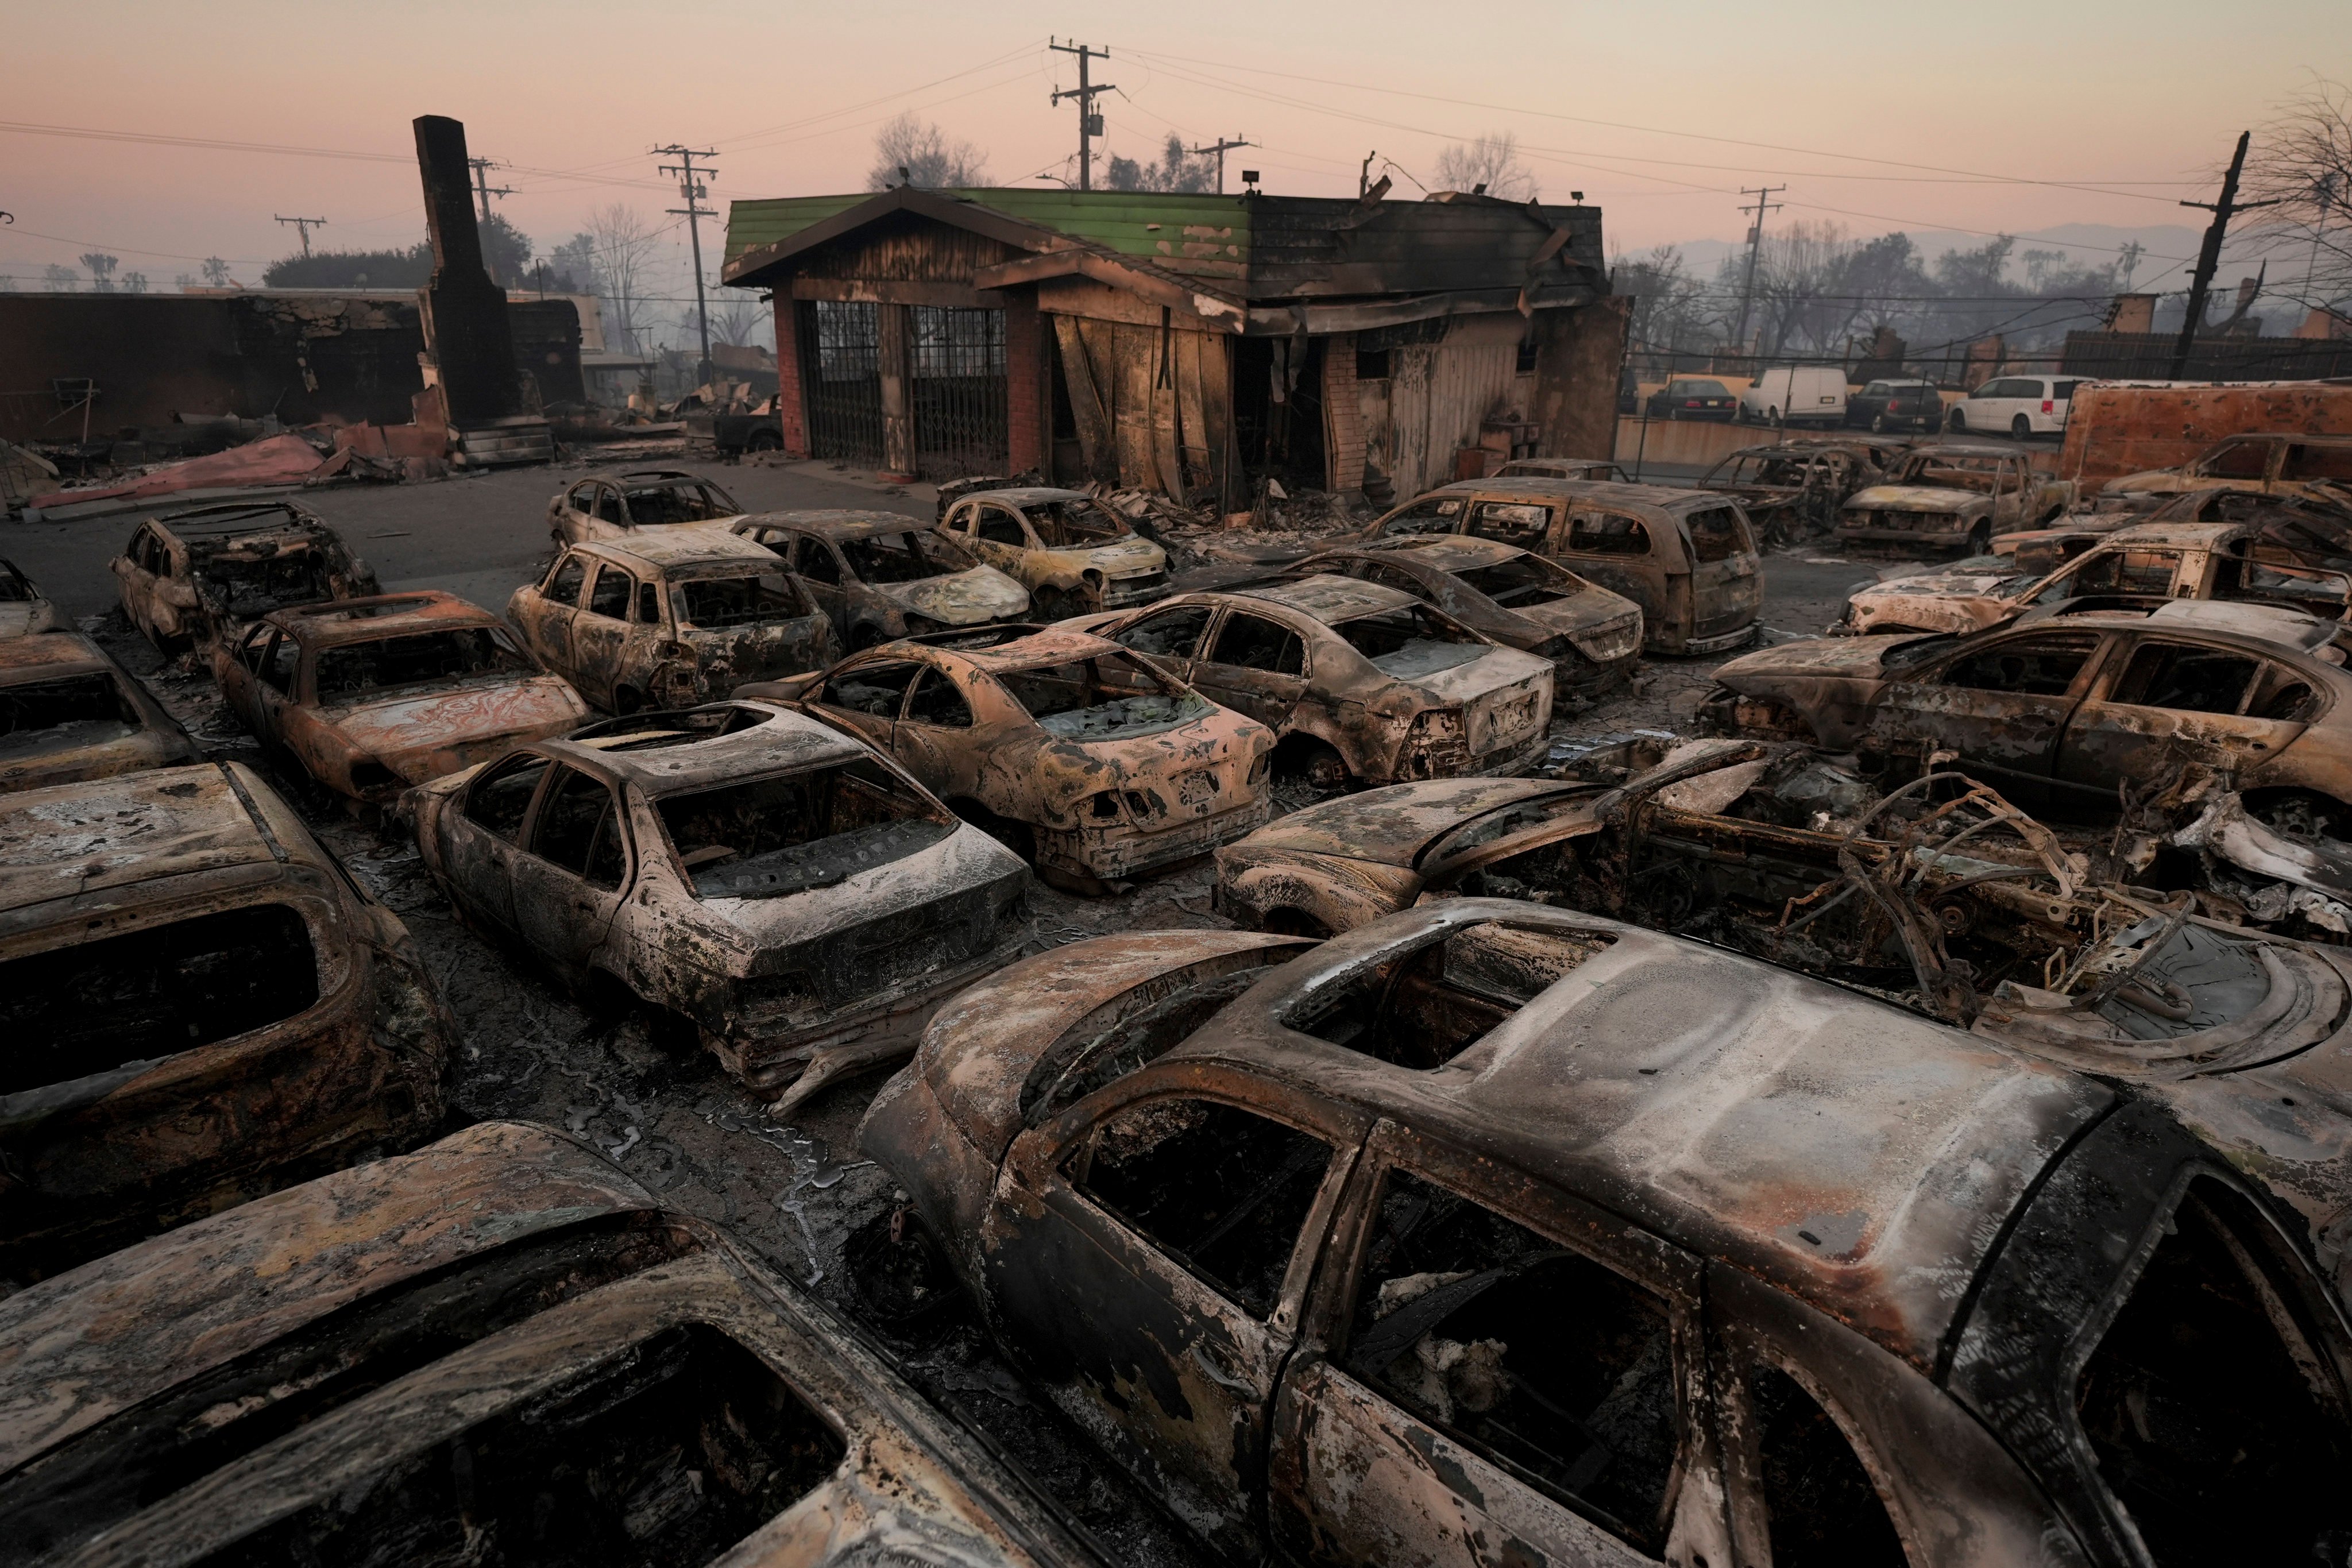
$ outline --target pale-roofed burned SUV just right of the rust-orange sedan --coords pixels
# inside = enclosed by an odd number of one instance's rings
[[[506,618],[609,712],[691,708],[833,663],[833,621],[776,557],[734,534],[628,534],[557,552]]]

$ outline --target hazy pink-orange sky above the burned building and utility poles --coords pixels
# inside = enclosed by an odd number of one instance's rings
[[[1235,167],[1268,190],[1352,195],[1371,148],[1430,179],[1449,141],[1510,129],[1543,195],[1583,190],[1625,249],[1733,237],[1736,190],[1766,181],[1788,186],[1776,223],[1863,235],[2201,223],[2173,202],[2211,193],[2239,129],[2312,78],[2352,80],[2345,0],[9,9],[0,273],[19,289],[85,249],[155,287],[209,254],[254,282],[296,247],[273,214],[329,219],[322,247],[407,244],[419,113],[513,165],[501,209],[541,254],[593,207],[675,207],[647,155],[666,141],[720,148],[722,209],[858,188],[903,108],[985,148],[995,183],[1035,183],[1075,143],[1075,110],[1047,101],[1075,82],[1047,52],[1068,28],[1110,47],[1110,150],[1247,134]]]

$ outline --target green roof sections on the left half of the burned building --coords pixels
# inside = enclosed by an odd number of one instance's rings
[[[936,195],[978,202],[1007,219],[1089,240],[1122,256],[1155,261],[1195,277],[1244,277],[1249,273],[1249,202],[1240,195],[1178,195],[1160,190],[1054,190],[976,188]],[[870,202],[856,195],[786,195],[762,202],[729,202],[727,256],[779,244],[811,223]]]

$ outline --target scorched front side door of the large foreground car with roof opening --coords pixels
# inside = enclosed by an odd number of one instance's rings
[[[1282,1291],[1275,1309],[1263,1321],[1247,1307],[1228,1300],[1216,1286],[1171,1260],[1160,1246],[1131,1229],[1108,1208],[1089,1199],[1075,1180],[1063,1173],[1063,1161],[1077,1152],[1096,1126],[1148,1105],[1152,1100],[1214,1100],[1235,1110],[1289,1126],[1331,1145],[1331,1164],[1308,1208],[1298,1237],[1291,1241],[1291,1260],[1282,1274]],[[1169,1495],[1178,1516],[1202,1535],[1237,1547],[1249,1535],[1265,1528],[1265,1458],[1270,1453],[1270,1422],[1275,1396],[1282,1385],[1284,1363],[1296,1345],[1298,1321],[1308,1305],[1308,1293],[1319,1267],[1324,1241],[1338,1204],[1355,1173],[1364,1135],[1374,1117],[1338,1105],[1312,1093],[1275,1084],[1223,1063],[1150,1063],[1091,1095],[1084,1095],[1058,1117],[1028,1126],[1014,1135],[997,1168],[997,1185],[981,1225],[981,1312],[990,1333],[1002,1345],[1021,1347],[1025,1338],[1049,1340],[1070,1328],[1070,1319],[1056,1316],[1040,1324],[1040,1335],[1023,1335],[1004,1300],[1004,1286],[1016,1288],[1068,1288],[1070,1302],[1082,1319],[1091,1319],[1108,1349],[1110,1366],[1131,1366],[1141,1373],[1129,1392],[1110,1389],[1127,1406],[1138,1406],[1150,1394],[1152,1361],[1167,1368],[1178,1403],[1190,1406],[1190,1415],[1167,1413],[1167,1420],[1141,1418],[1152,1432],[1190,1427],[1195,1432],[1225,1432],[1235,1441],[1235,1458],[1242,1462],[1240,1497],[1190,1500],[1171,1495],[1167,1467],[1141,1448],[1122,1422],[1122,1410],[1110,1399],[1091,1394],[1073,1356],[1058,1347],[1033,1347],[1033,1375],[1047,1387],[1054,1403],[1070,1413],[1089,1434],[1105,1439],[1105,1448],[1131,1472],[1152,1483],[1160,1495]],[[1063,1258],[1075,1258],[1080,1248],[1098,1255],[1103,1286],[1115,1279],[1129,1291],[1127,1309],[1103,1312],[1108,1305],[1098,1291],[1089,1291],[1075,1279],[1087,1258],[1054,1269],[1023,1269],[1009,1262],[1009,1248],[1018,1248],[1014,1225],[1056,1222],[1065,1237]],[[1040,1232],[1042,1234],[1042,1232]],[[1218,1345],[1207,1342],[1207,1333],[1195,1328],[1185,1307],[1204,1309],[1221,1331]],[[1091,1307],[1091,1309],[1089,1309]],[[1141,1324],[1143,1309],[1157,1309],[1162,1333]],[[1218,1312],[1223,1309],[1223,1312]],[[1124,1335],[1124,1347],[1112,1349],[1112,1335]],[[1016,1349],[1016,1354],[1021,1354]],[[1254,1361],[1249,1361],[1254,1356]],[[1237,1361],[1244,1361],[1237,1366]],[[1068,1373],[1056,1382],[1054,1373]],[[1256,1403],[1254,1422],[1235,1422],[1249,1403]],[[1202,1418],[1200,1408],[1211,1415]],[[1225,1420],[1218,1420],[1223,1413]],[[1254,1432],[1244,1436],[1244,1427]],[[1254,1450],[1251,1450],[1254,1441]],[[1195,1458],[1207,1458],[1202,1448]],[[1204,1526],[1204,1521],[1209,1521]]]

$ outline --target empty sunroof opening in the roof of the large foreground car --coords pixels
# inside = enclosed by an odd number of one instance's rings
[[[1599,931],[1461,926],[1312,992],[1282,1023],[1397,1067],[1444,1067],[1613,943]]]

